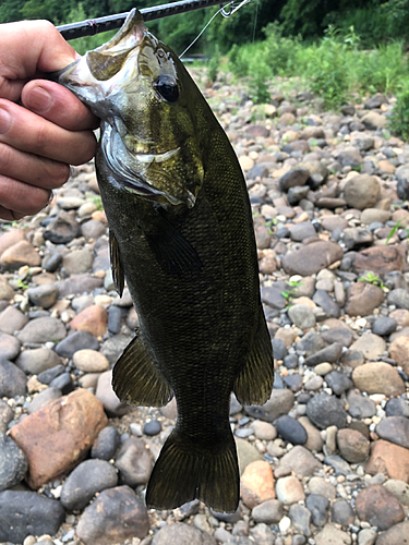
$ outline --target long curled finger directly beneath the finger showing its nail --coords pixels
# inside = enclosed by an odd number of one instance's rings
[[[87,162],[96,148],[92,131],[68,131],[4,99],[0,99],[0,142],[69,165]]]

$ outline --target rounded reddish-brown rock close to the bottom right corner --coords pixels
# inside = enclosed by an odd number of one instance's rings
[[[399,501],[382,485],[361,491],[356,500],[358,517],[378,530],[387,530],[405,519]]]

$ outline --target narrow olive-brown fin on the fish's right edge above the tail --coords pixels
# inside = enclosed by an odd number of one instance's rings
[[[234,393],[241,404],[263,404],[272,395],[274,383],[274,358],[272,340],[264,319],[262,306],[258,312],[258,328],[253,348],[234,383]]]

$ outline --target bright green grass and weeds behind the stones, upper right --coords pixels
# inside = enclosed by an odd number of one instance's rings
[[[298,86],[321,97],[325,108],[338,110],[357,97],[376,92],[398,94],[400,110],[393,131],[408,137],[409,71],[402,41],[381,44],[376,49],[361,48],[361,38],[353,26],[341,33],[329,25],[322,40],[304,44],[298,37],[285,37],[279,25],[265,29],[266,39],[229,52],[229,68],[237,77],[248,78],[254,102],[270,101],[270,85],[276,76],[297,76]],[[400,95],[399,95],[400,94]]]

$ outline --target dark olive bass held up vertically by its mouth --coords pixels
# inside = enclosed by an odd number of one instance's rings
[[[252,210],[234,150],[178,56],[132,10],[107,44],[58,81],[100,118],[96,173],[112,278],[130,290],[135,337],[115,364],[117,396],[176,425],[154,464],[148,508],[240,499],[231,392],[263,404],[274,382]]]

